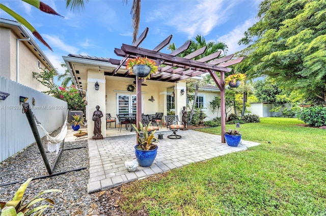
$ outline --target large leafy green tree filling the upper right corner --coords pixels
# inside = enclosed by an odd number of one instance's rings
[[[247,74],[326,103],[326,1],[264,0],[258,18],[239,41]]]

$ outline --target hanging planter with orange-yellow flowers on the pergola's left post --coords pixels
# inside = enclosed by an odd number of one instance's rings
[[[156,73],[157,68],[155,61],[147,57],[129,58],[126,66],[130,74],[134,73],[138,77],[144,77],[145,80],[150,79],[150,75]]]

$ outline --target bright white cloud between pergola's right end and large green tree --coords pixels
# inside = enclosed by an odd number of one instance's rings
[[[238,45],[238,41],[243,38],[244,32],[251,27],[253,24],[257,22],[256,19],[248,19],[241,25],[237,25],[230,33],[219,37],[216,41],[217,42],[223,42],[228,45],[228,54],[235,53],[237,51],[240,51],[245,46],[244,45]]]

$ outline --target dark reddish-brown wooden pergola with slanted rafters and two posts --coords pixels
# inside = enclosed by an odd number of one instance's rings
[[[122,44],[121,48],[115,48],[115,53],[118,56],[123,57],[122,60],[110,58],[110,62],[113,65],[117,65],[116,69],[111,73],[104,73],[107,76],[124,76],[130,77],[129,72],[125,74],[118,74],[117,71],[126,65],[126,60],[128,58],[135,58],[137,56],[147,56],[150,59],[155,60],[156,65],[166,65],[165,67],[159,67],[158,71],[155,74],[151,74],[151,80],[159,80],[165,82],[177,82],[180,80],[188,79],[205,73],[209,73],[213,78],[216,85],[221,91],[221,134],[222,142],[225,143],[224,132],[225,132],[225,72],[230,72],[231,68],[228,68],[231,65],[240,63],[243,57],[231,60],[233,54],[218,58],[221,54],[221,51],[212,53],[208,56],[202,57],[197,60],[192,60],[193,58],[203,54],[206,50],[206,47],[202,47],[191,54],[188,54],[184,57],[177,56],[178,54],[187,50],[191,44],[190,41],[183,44],[178,49],[172,51],[170,54],[159,52],[162,48],[167,46],[171,39],[172,35],[167,37],[154,49],[144,49],[140,48],[139,45],[146,38],[148,33],[148,27],[140,35],[140,37],[132,45]],[[220,78],[216,75],[216,72],[220,72]],[[136,77],[138,78],[138,77]],[[142,92],[142,79],[136,79],[136,95],[137,95],[137,127],[139,127],[139,122],[141,121],[141,92]]]

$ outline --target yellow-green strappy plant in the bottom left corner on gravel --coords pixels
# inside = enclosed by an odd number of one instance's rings
[[[28,187],[29,183],[31,182],[33,178],[29,178],[24,183],[21,184],[19,189],[17,190],[14,198],[8,202],[0,202],[0,209],[1,209],[1,216],[7,216],[7,215],[31,215],[32,213],[35,213],[34,215],[42,215],[43,211],[47,207],[53,207],[52,204],[54,202],[48,198],[39,198],[39,196],[46,194],[46,193],[52,193],[52,192],[62,192],[59,189],[49,189],[42,191],[38,195],[36,195],[30,202],[24,204],[24,201],[27,197],[25,197],[23,200],[23,196],[25,193],[26,188]],[[47,201],[49,204],[41,205],[33,207],[36,203],[40,201]]]

